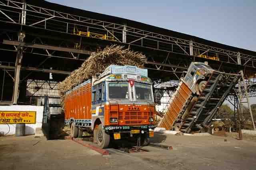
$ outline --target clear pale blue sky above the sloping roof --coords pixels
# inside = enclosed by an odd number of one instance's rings
[[[256,0],[48,0],[256,51]]]

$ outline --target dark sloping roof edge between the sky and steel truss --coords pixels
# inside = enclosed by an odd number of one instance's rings
[[[18,1],[21,1],[21,0],[18,0]],[[255,51],[250,51],[250,50],[242,49],[242,48],[238,48],[238,47],[232,47],[230,45],[225,45],[222,43],[212,42],[210,40],[205,40],[203,38],[198,38],[196,36],[191,36],[188,34],[183,34],[180,32],[175,32],[172,30],[164,29],[164,28],[151,26],[148,24],[136,22],[133,20],[128,20],[125,18],[119,18],[116,16],[110,16],[110,15],[106,15],[106,14],[100,14],[100,13],[96,13],[96,12],[90,12],[90,11],[86,11],[86,10],[72,8],[72,7],[68,7],[68,6],[64,6],[64,5],[60,5],[60,4],[55,4],[52,2],[47,2],[45,0],[26,0],[26,2],[28,4],[31,4],[34,6],[40,6],[42,8],[48,8],[48,9],[56,10],[59,12],[65,12],[65,13],[69,13],[69,14],[93,18],[95,20],[103,20],[106,22],[112,22],[112,23],[116,23],[116,24],[126,24],[127,26],[139,28],[142,30],[148,30],[148,31],[155,32],[158,34],[163,34],[166,36],[173,36],[173,37],[181,38],[181,39],[185,39],[185,40],[192,40],[194,42],[203,43],[205,45],[211,45],[214,47],[218,47],[218,48],[222,48],[222,49],[226,49],[226,50],[230,50],[230,51],[236,51],[236,52],[256,56]]]

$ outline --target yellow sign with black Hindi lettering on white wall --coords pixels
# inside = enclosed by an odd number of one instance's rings
[[[0,124],[36,124],[36,111],[0,111]]]

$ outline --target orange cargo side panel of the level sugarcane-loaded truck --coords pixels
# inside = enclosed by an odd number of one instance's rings
[[[91,91],[92,84],[79,87],[64,98],[65,119],[92,119],[91,109]]]

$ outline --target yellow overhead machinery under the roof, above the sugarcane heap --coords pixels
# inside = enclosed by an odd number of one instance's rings
[[[114,36],[113,36],[114,31],[112,31],[112,35],[110,35],[110,36],[108,35],[108,32],[107,32],[107,34],[97,34],[97,33],[93,33],[93,32],[82,32],[82,31],[79,31],[75,25],[73,33],[78,36],[86,36],[86,37],[91,37],[91,38],[99,38],[102,40],[115,41]],[[75,43],[75,48],[80,48],[80,43]]]

